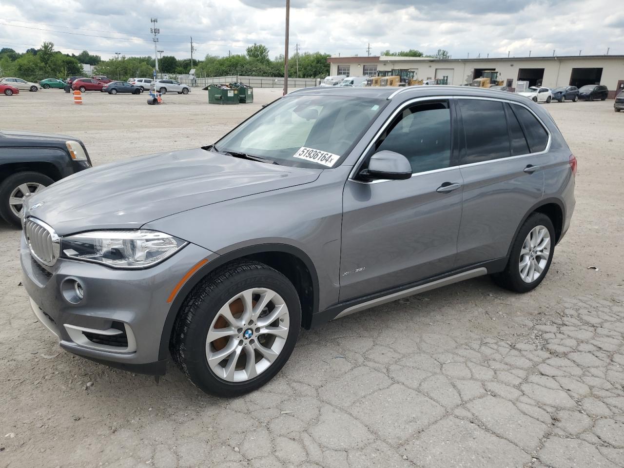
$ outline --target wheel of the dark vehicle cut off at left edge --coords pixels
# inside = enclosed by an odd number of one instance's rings
[[[40,172],[17,172],[0,184],[0,216],[19,227],[27,198],[47,187],[54,180]]]

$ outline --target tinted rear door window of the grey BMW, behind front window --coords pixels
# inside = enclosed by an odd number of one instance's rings
[[[462,164],[509,157],[503,103],[483,99],[457,99],[457,102],[466,136],[466,157]]]

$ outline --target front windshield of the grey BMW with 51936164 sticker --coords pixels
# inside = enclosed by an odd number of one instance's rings
[[[219,140],[215,149],[286,166],[335,167],[385,103],[363,97],[284,97]]]

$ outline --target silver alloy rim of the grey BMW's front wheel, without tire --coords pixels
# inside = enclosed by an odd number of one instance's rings
[[[206,337],[206,359],[215,375],[245,382],[270,368],[290,326],[285,301],[267,288],[243,291],[218,311]]]

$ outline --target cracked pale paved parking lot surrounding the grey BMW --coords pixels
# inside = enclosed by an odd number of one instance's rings
[[[211,144],[280,94],[152,106],[87,92],[79,106],[22,92],[0,96],[0,126],[73,135],[100,165]],[[156,383],[61,351],[21,287],[20,233],[0,222],[0,466],[624,467],[624,113],[545,106],[578,175],[539,288],[482,277],[302,331],[280,374],[236,399],[173,364]]]

